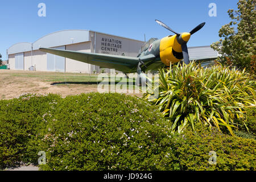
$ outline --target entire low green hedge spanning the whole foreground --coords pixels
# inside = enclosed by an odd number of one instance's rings
[[[1,100],[0,168],[37,164],[45,151],[43,170],[255,170],[254,139],[202,126],[171,134],[170,126],[153,106],[123,94]]]

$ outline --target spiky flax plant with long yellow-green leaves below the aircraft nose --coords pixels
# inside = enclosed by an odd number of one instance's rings
[[[245,109],[256,105],[255,85],[245,69],[219,63],[210,68],[195,62],[179,63],[159,69],[159,84],[152,84],[143,99],[170,120],[172,131],[180,133],[188,126],[194,129],[200,122],[234,135],[234,129],[246,126]],[[152,97],[155,89],[159,89],[158,97]]]

